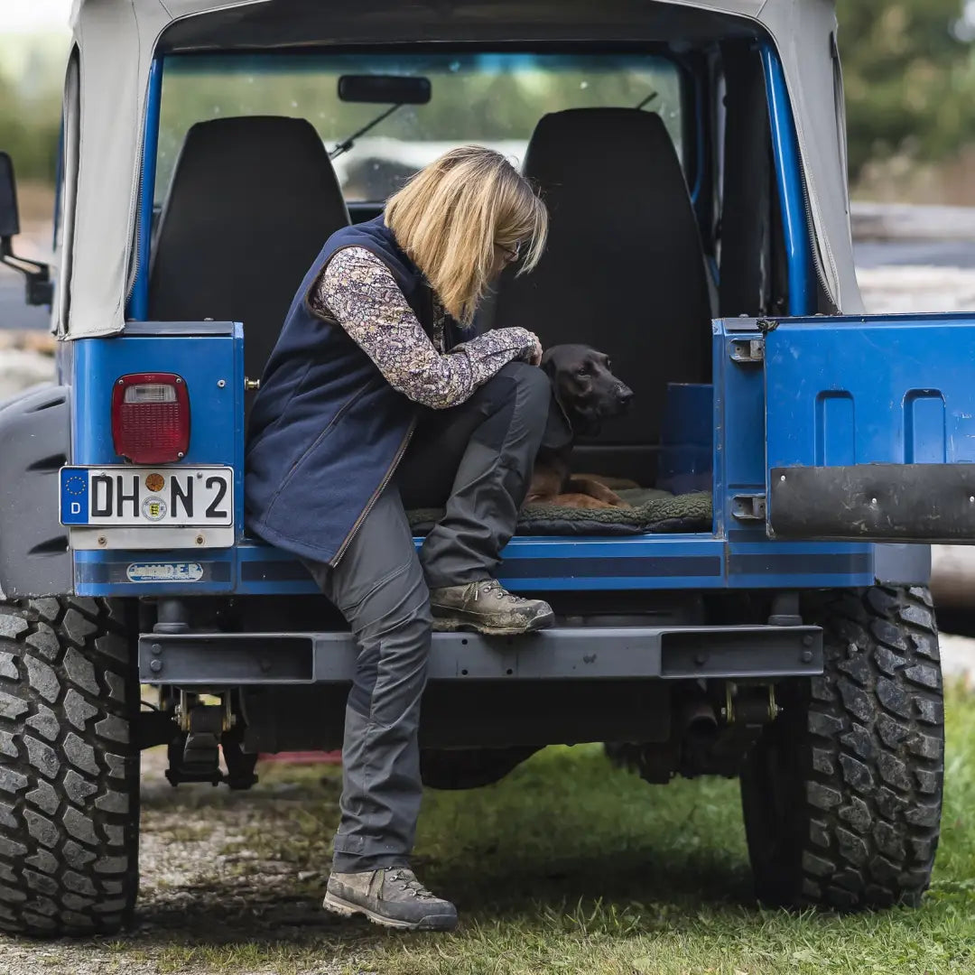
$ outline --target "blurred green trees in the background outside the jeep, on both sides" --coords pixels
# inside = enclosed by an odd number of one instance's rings
[[[975,204],[975,0],[839,0],[839,22],[861,195]],[[65,49],[0,37],[0,148],[24,180],[54,176]]]

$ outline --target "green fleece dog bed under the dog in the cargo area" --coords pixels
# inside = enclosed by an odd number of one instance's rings
[[[630,508],[570,508],[561,504],[528,504],[515,533],[519,535],[641,535],[646,532],[711,530],[711,493],[671,494],[652,487],[616,492]],[[409,526],[426,534],[443,514],[441,508],[407,512]]]

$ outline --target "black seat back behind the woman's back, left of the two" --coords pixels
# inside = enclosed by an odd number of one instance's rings
[[[243,322],[244,366],[257,378],[301,279],[348,222],[310,123],[199,122],[186,134],[159,218],[149,318]]]

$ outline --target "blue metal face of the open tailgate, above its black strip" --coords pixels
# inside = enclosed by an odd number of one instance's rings
[[[765,338],[768,467],[975,461],[975,315],[783,321]]]

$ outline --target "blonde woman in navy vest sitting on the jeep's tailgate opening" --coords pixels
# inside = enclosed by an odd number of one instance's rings
[[[254,403],[248,524],[302,559],[359,647],[325,900],[337,914],[454,926],[409,870],[431,630],[552,623],[548,604],[493,578],[548,415],[541,347],[524,329],[454,343],[506,264],[524,251],[522,272],[534,267],[547,228],[503,156],[448,152],[382,216],[331,235]],[[438,504],[417,556],[405,505]]]

